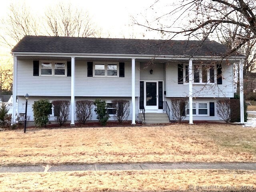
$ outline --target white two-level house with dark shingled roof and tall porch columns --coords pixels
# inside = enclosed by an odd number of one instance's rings
[[[29,94],[30,120],[34,120],[35,101],[70,100],[71,125],[76,121],[75,101],[96,98],[106,100],[109,108],[113,99],[129,100],[132,124],[144,122],[142,112],[146,122],[166,122],[171,99],[182,97],[189,98],[185,120],[190,124],[193,120],[221,120],[216,101],[234,96],[233,65],[239,64],[241,72],[244,58],[237,53],[224,57],[228,51],[209,40],[25,36],[12,49],[13,95],[18,96],[18,113],[22,114],[24,95]],[[173,120],[171,113],[172,109],[168,115]],[[54,120],[54,111],[50,120]],[[94,111],[92,120],[97,120]]]

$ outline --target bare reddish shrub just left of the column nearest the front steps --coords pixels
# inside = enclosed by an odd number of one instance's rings
[[[116,119],[119,124],[124,120],[126,121],[130,114],[130,102],[128,100],[112,100],[112,106],[116,111],[114,119]]]

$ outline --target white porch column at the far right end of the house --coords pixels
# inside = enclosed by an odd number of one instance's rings
[[[244,123],[244,66],[243,60],[239,62],[239,93],[240,93],[240,122]]]

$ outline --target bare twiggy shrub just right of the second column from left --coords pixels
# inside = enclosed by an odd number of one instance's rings
[[[76,119],[82,124],[92,119],[92,101],[76,101]]]

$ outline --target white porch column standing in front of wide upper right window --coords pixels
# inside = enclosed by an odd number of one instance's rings
[[[189,124],[193,124],[193,60],[188,61],[188,80],[189,80]]]

